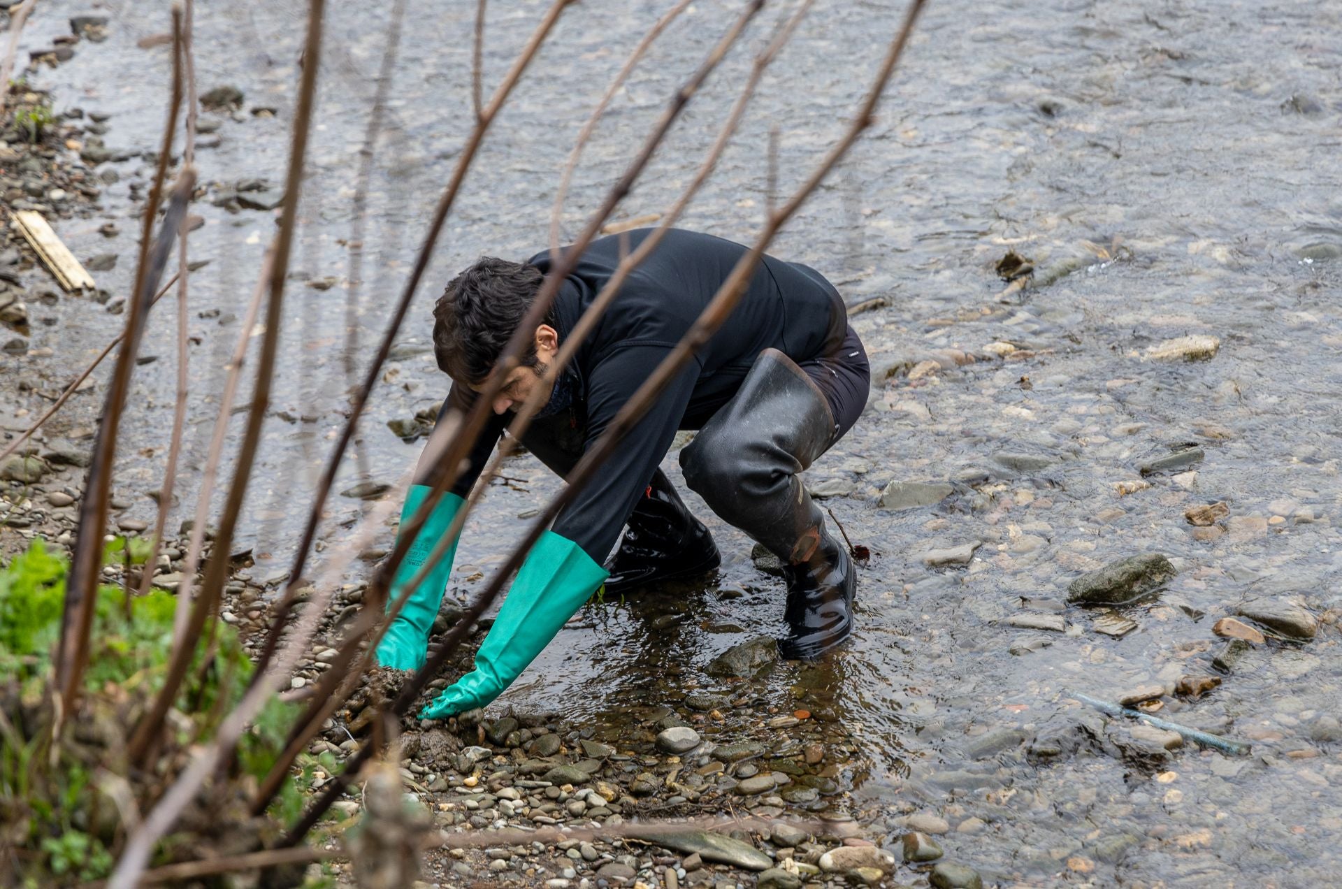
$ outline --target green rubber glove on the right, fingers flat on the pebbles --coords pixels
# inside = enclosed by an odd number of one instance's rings
[[[475,669],[444,689],[421,718],[447,718],[502,694],[608,575],[576,543],[545,532],[526,553],[498,619],[475,653]]]

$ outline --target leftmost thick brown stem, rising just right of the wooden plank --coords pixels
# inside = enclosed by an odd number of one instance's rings
[[[173,44],[181,43],[181,12],[173,9]],[[117,368],[113,372],[111,387],[107,389],[106,407],[98,434],[94,439],[93,461],[85,481],[85,494],[79,501],[79,526],[75,536],[74,553],[70,557],[70,576],[66,580],[64,611],[60,619],[60,647],[56,655],[56,688],[64,713],[74,713],[75,698],[83,681],[83,670],[89,662],[89,634],[93,630],[97,586],[102,568],[102,536],[107,528],[107,501],[111,492],[113,461],[117,457],[117,434],[126,393],[130,388],[130,375],[136,367],[136,353],[140,350],[140,337],[149,317],[149,298],[158,286],[172,238],[177,235],[176,226],[185,219],[185,201],[196,184],[195,171],[185,168],[177,179],[172,207],[164,219],[164,228],[154,243],[150,265],[149,244],[153,239],[153,224],[162,200],[164,179],[168,175],[168,161],[172,157],[172,142],[177,129],[177,110],[181,106],[181,59],[173,55],[172,98],[168,106],[168,124],[164,128],[158,164],[154,169],[153,187],[145,204],[145,222],[140,240],[140,258],[136,263],[136,283],[126,312],[126,337],[117,355]],[[168,223],[173,226],[169,227]]]

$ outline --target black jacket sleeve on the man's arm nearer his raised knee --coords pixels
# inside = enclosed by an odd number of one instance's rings
[[[585,450],[590,450],[620,408],[670,353],[671,346],[667,345],[629,345],[616,348],[597,363],[588,377]],[[675,440],[698,376],[699,363],[691,360],[596,470],[586,487],[554,520],[554,533],[576,543],[592,561],[601,564],[615,547],[633,505]]]

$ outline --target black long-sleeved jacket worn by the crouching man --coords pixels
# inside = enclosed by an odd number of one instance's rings
[[[577,324],[620,263],[652,230],[593,240],[554,301],[560,340]],[[585,415],[585,446],[605,431],[624,403],[675,348],[726,281],[746,247],[670,230],[625,279],[605,316],[570,364],[574,402]],[[550,270],[550,252],[529,261]],[[756,356],[780,349],[797,363],[843,338],[847,320],[833,286],[807,266],[764,256],[745,297],[718,333],[629,431],[600,473],[556,518],[553,530],[600,564],[611,552],[676,430],[701,428],[741,385]],[[454,384],[447,408],[467,411],[476,395]],[[479,478],[513,412],[491,416],[454,490],[464,497]]]

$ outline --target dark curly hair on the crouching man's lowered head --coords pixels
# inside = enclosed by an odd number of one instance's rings
[[[454,380],[479,385],[494,369],[545,275],[525,262],[482,256],[452,278],[433,306],[433,356]],[[545,324],[554,326],[553,310]],[[535,367],[535,342],[522,367]]]

